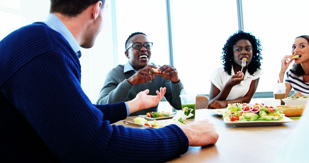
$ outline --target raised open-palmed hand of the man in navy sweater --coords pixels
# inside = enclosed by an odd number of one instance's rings
[[[148,89],[138,93],[133,100],[127,102],[130,114],[142,109],[157,106],[161,99],[164,97],[165,92],[166,88],[161,87],[160,92],[158,90],[156,91],[156,96],[147,95],[149,93]]]

